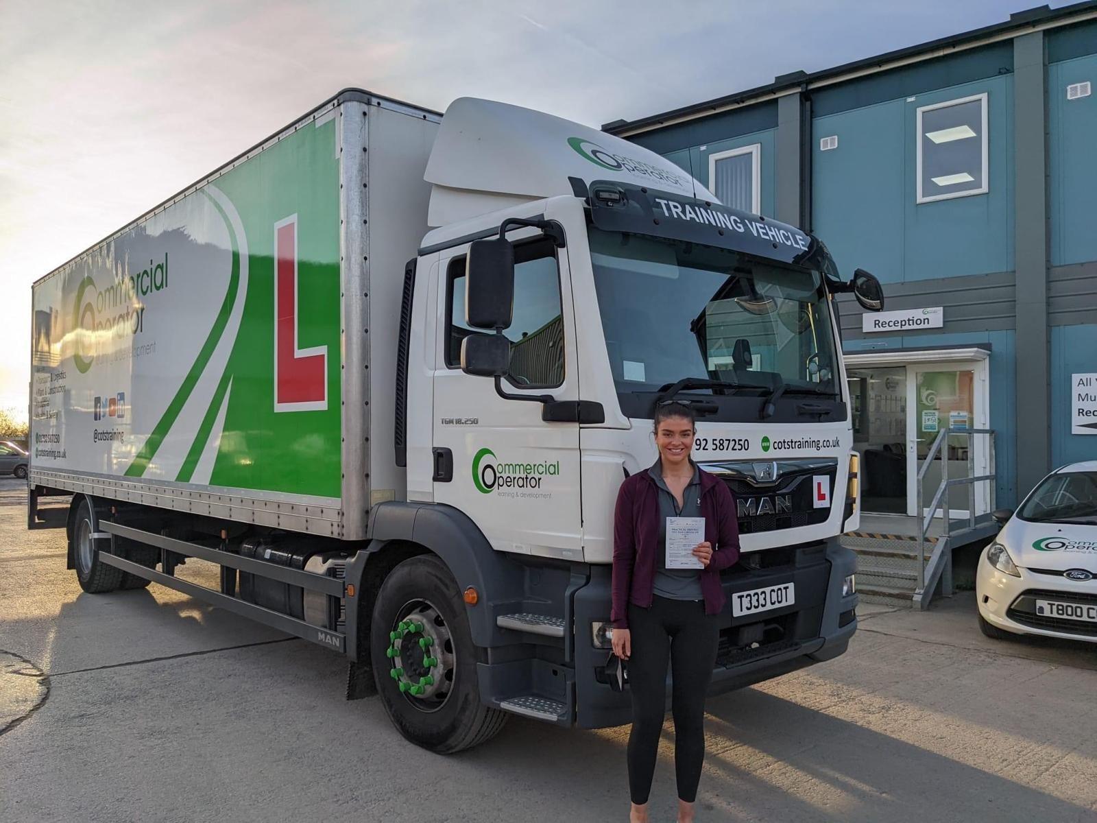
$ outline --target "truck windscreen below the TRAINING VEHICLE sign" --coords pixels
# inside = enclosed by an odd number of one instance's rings
[[[593,226],[590,251],[619,395],[697,377],[734,384],[715,394],[768,394],[783,384],[783,395],[837,396],[818,272]]]

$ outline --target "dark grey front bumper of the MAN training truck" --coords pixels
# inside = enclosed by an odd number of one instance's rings
[[[853,574],[851,551],[829,539],[795,550],[764,550],[761,568],[723,574],[727,605],[720,616],[721,646],[709,695],[721,695],[837,657],[857,630],[857,595],[841,596],[845,577]],[[766,556],[762,556],[766,555]],[[770,559],[773,563],[767,565]],[[742,565],[742,564],[740,564]],[[796,602],[783,609],[733,620],[732,595],[793,580]],[[600,729],[632,720],[632,698],[606,681],[608,649],[595,649],[593,621],[609,620],[610,570],[592,567],[590,582],[575,594],[576,725]],[[757,645],[754,645],[757,644]],[[670,675],[667,675],[667,708]]]

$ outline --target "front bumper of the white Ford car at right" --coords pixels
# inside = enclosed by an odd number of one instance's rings
[[[1097,623],[1036,612],[1037,599],[1097,606],[1097,580],[1071,580],[1061,574],[1030,568],[1018,567],[1017,571],[1020,577],[999,572],[987,562],[986,550],[983,550],[975,573],[975,598],[979,613],[986,622],[1015,634],[1097,643]]]

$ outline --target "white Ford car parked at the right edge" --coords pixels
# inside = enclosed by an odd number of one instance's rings
[[[1006,525],[975,573],[983,634],[1097,643],[1097,461],[1052,472],[994,516]]]

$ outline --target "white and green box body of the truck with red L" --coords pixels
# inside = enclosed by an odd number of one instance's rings
[[[377,102],[326,103],[35,285],[36,482],[365,535],[403,486],[370,448],[395,380],[370,345],[396,337],[439,122]]]

